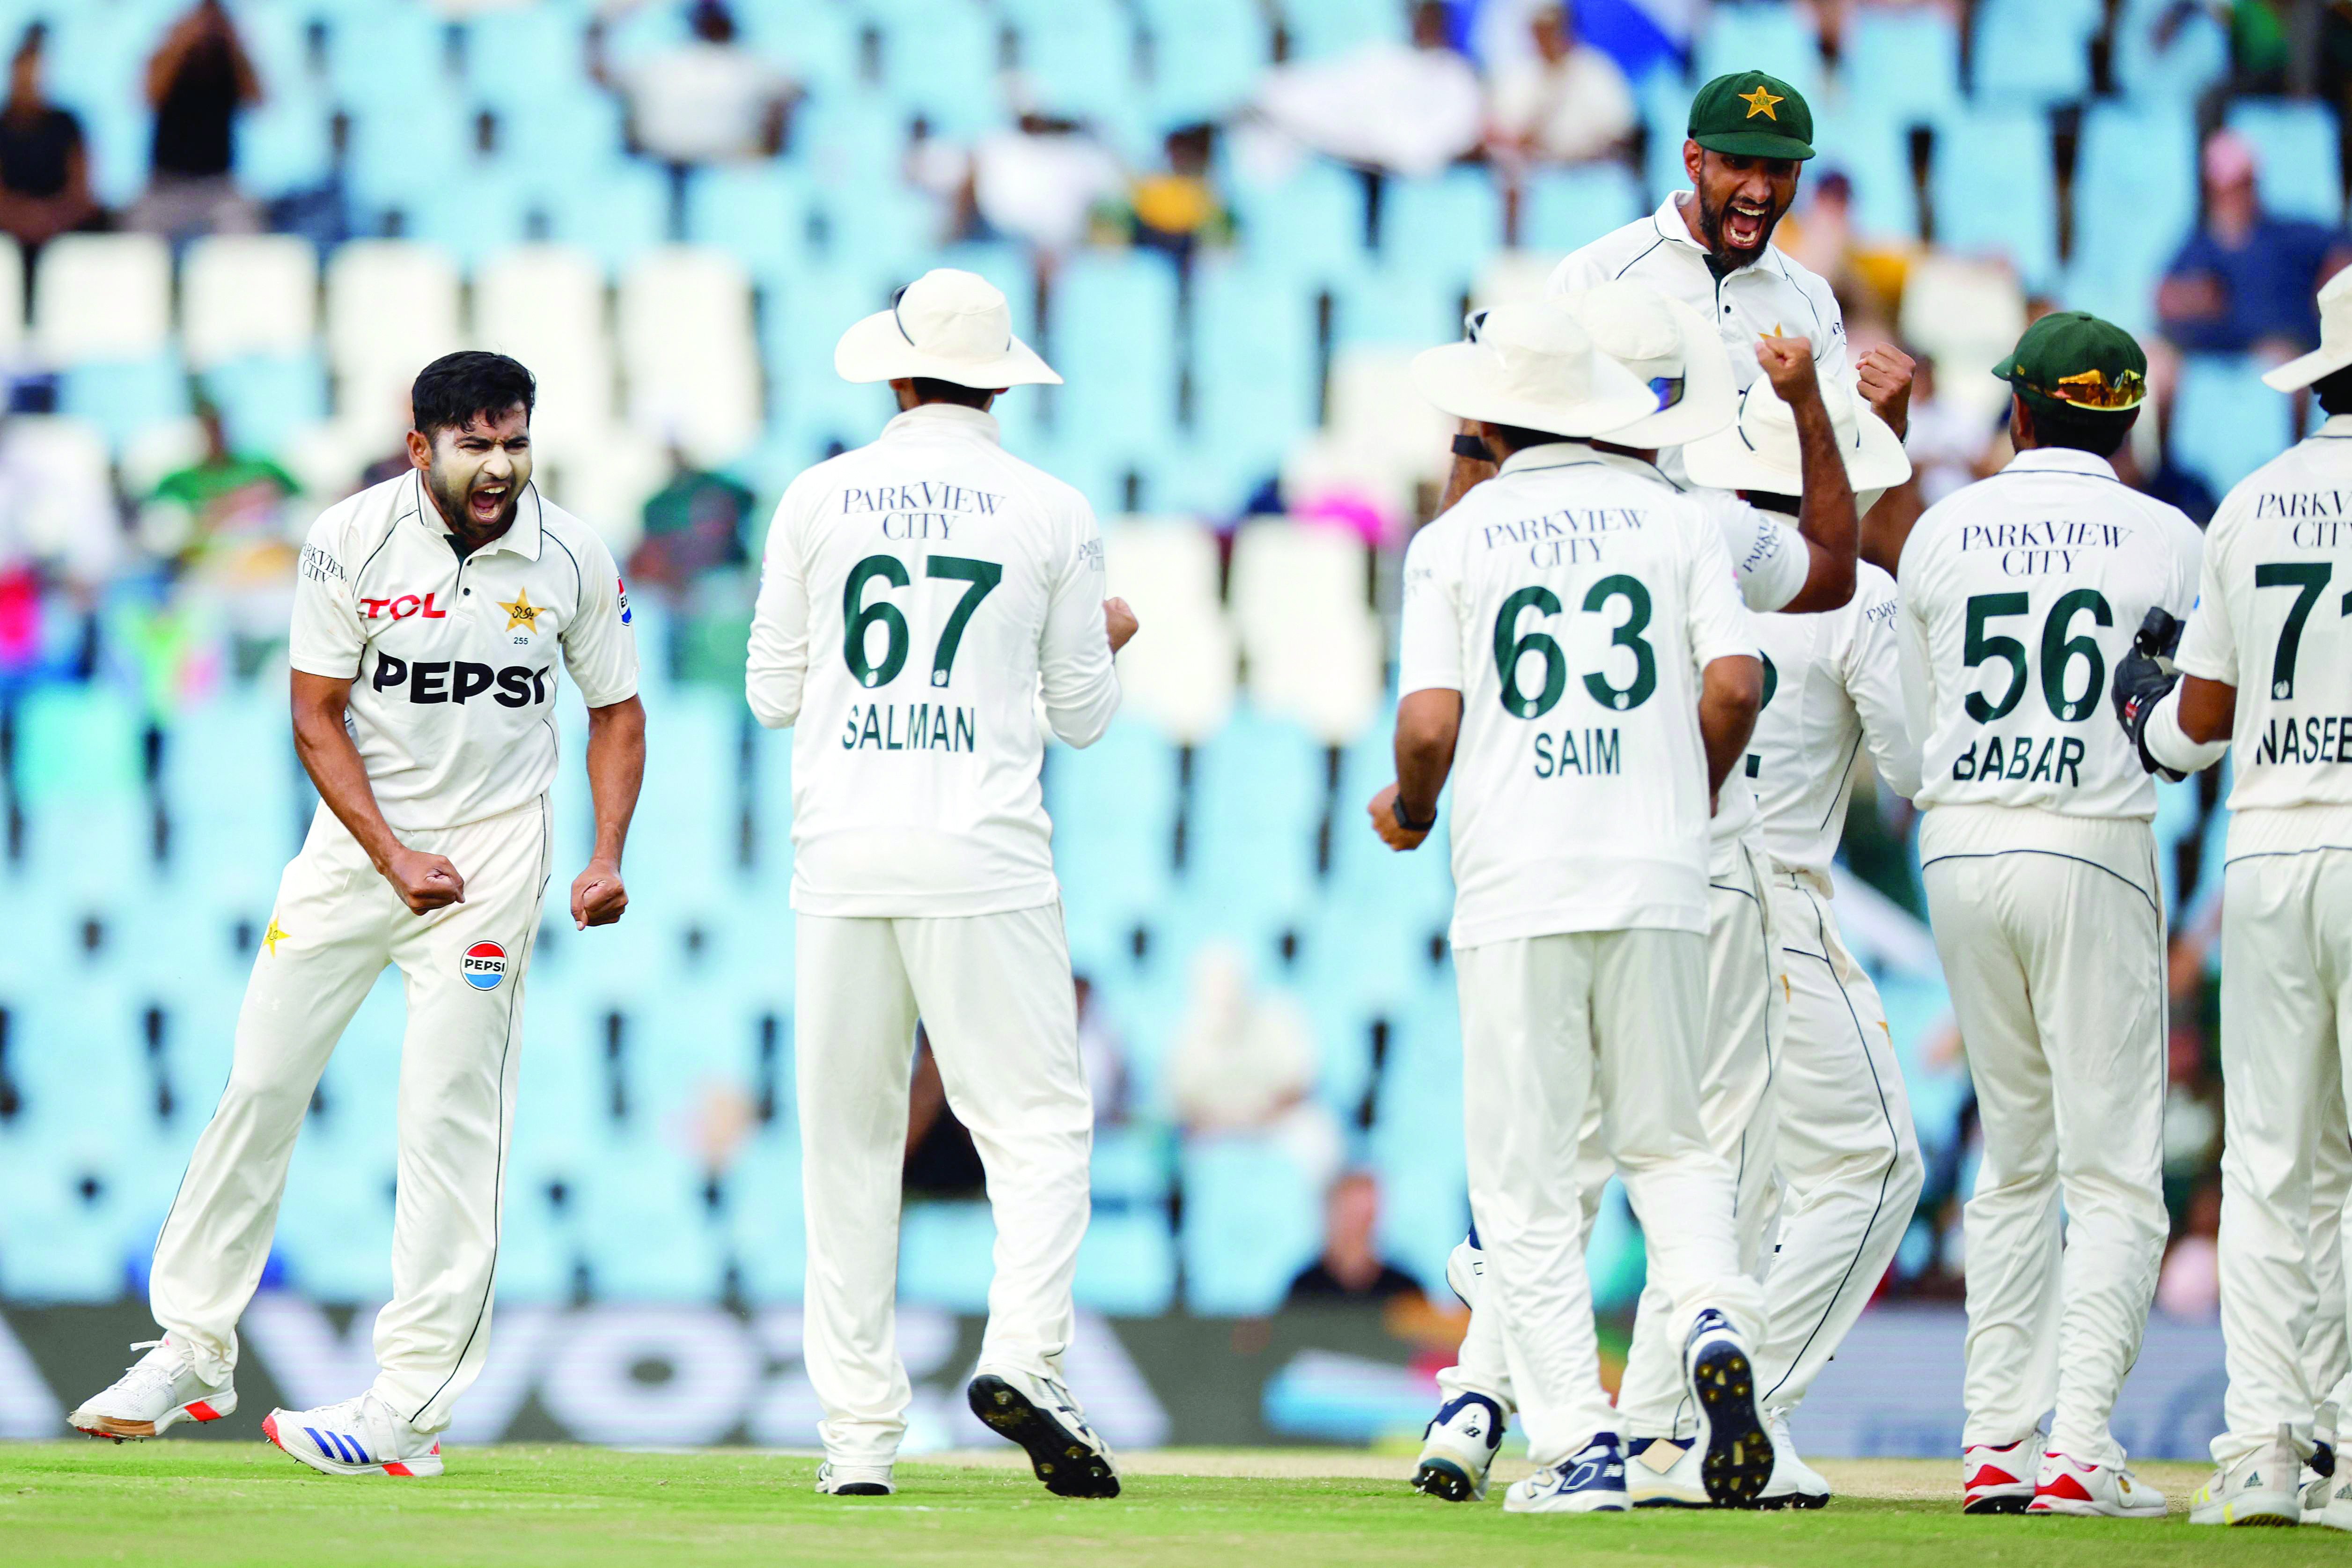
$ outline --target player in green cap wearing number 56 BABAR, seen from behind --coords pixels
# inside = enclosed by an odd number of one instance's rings
[[[2161,1519],[2107,1425],[2166,1232],[2157,790],[2098,708],[2133,628],[2197,592],[2201,538],[2107,465],[2147,386],[2126,331],[2046,315],[1999,374],[2016,461],[1929,508],[1898,574],[1919,860],[1985,1126],[1964,1505]]]

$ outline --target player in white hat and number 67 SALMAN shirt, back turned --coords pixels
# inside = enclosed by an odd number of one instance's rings
[[[750,635],[750,708],[793,736],[807,1366],[821,1493],[889,1493],[910,1401],[898,1359],[898,1171],[922,1018],[988,1168],[997,1274],[971,1410],[1047,1490],[1115,1497],[1063,1387],[1087,1234],[1094,1105],[1037,771],[1044,719],[1091,745],[1134,635],[1103,599],[1087,498],[997,444],[988,404],[1058,383],[1004,296],[934,270],[856,322],[847,381],[889,381],[882,437],[783,494]],[[1108,635],[1105,635],[1108,630]]]

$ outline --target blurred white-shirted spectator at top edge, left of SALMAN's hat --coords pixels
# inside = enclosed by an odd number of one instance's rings
[[[722,0],[694,0],[691,40],[612,68],[604,26],[588,26],[588,75],[621,94],[637,148],[673,167],[774,158],[783,150],[800,85],[743,47]]]

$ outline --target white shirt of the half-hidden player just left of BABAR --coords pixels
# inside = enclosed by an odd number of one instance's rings
[[[1919,792],[1919,748],[1896,670],[1896,581],[1860,562],[1853,597],[1818,616],[1757,616],[1764,712],[1748,783],[1776,865],[1830,875],[1863,748],[1896,795]]]

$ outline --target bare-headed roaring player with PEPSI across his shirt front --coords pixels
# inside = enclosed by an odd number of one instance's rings
[[[376,1382],[273,1410],[273,1443],[332,1476],[437,1476],[482,1371],[515,1112],[522,983],[553,856],[555,668],[588,703],[595,853],[576,926],[621,919],[644,776],[637,649],[612,552],[532,484],[532,374],[435,360],[412,390],[414,470],[327,508],[294,590],[294,745],[320,813],[287,865],[238,1016],[228,1088],[155,1239],[165,1338],[71,1415],[155,1436],[238,1408],[238,1316],[261,1279],[294,1135],[386,964],[407,983],[393,1300]]]

